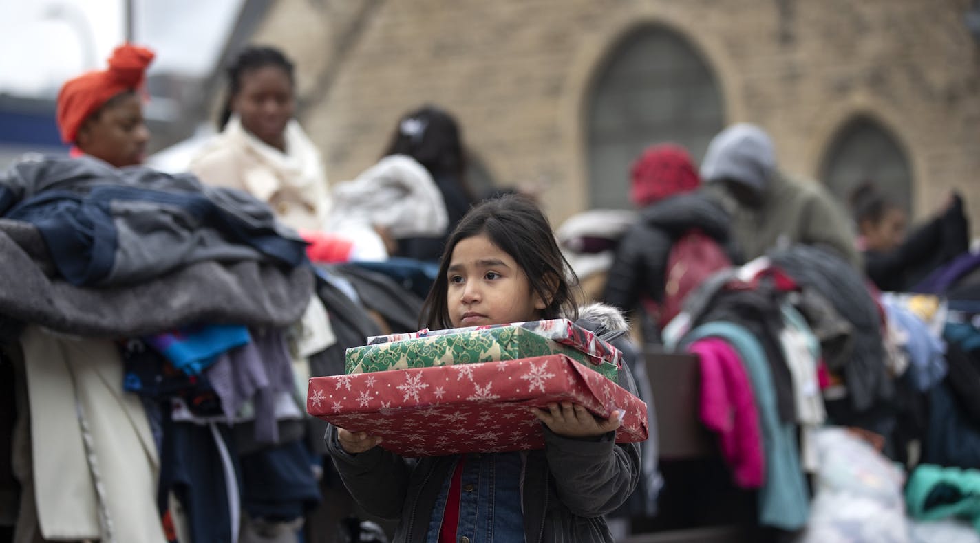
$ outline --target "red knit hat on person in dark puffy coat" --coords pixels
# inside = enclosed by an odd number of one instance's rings
[[[643,152],[631,170],[633,186],[629,198],[637,207],[691,192],[701,179],[690,155],[673,144],[655,145]]]

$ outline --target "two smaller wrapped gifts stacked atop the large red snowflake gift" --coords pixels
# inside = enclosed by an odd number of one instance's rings
[[[622,353],[567,319],[377,336],[347,349],[349,374],[564,354],[615,381]]]

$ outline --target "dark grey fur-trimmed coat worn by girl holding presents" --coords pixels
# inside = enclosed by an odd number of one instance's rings
[[[618,336],[626,323],[617,311],[584,311],[582,319],[599,323],[599,337]],[[632,393],[636,385],[622,368],[618,384]],[[569,439],[544,428],[544,450],[530,451],[522,481],[524,540],[544,542],[612,542],[604,515],[633,492],[640,477],[638,443],[617,444],[613,433],[599,441]],[[452,475],[455,456],[402,458],[380,447],[350,455],[331,425],[325,435],[334,465],[354,499],[368,513],[399,519],[395,543],[424,542],[432,508],[443,481]]]

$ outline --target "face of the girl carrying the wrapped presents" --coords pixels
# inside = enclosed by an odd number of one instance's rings
[[[485,234],[456,244],[446,273],[454,328],[538,320],[547,306],[514,258]]]

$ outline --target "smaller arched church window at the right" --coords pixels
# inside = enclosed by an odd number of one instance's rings
[[[858,184],[873,181],[911,214],[912,175],[906,154],[881,124],[866,116],[846,123],[831,140],[820,165],[820,179],[848,208]]]

